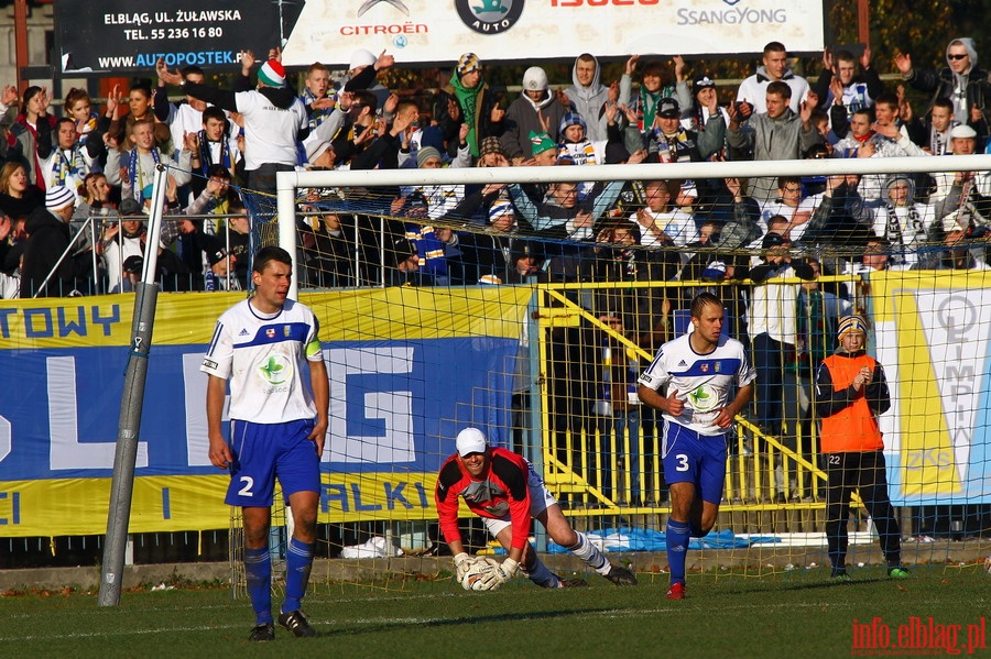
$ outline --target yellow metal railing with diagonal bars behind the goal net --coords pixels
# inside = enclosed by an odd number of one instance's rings
[[[823,282],[841,281],[854,285],[859,290],[859,277],[823,277]],[[784,284],[798,283],[782,281]],[[663,470],[661,464],[661,425],[653,432],[645,433],[641,424],[639,431],[631,435],[629,427],[619,438],[617,446],[606,452],[610,461],[606,473],[608,482],[601,482],[603,472],[599,464],[603,455],[603,431],[596,422],[586,422],[578,431],[556,432],[552,427],[548,392],[548,332],[562,328],[577,328],[582,322],[602,332],[617,345],[635,354],[644,364],[653,354],[638,345],[630,338],[602,322],[593,312],[579,306],[568,296],[568,292],[588,293],[608,288],[682,288],[686,286],[711,286],[698,282],[622,282],[596,284],[547,284],[538,286],[544,294],[538,304],[538,327],[542,376],[540,378],[542,405],[542,453],[545,465],[545,482],[548,488],[568,505],[569,515],[600,514],[665,514],[668,507],[662,495]],[[718,286],[718,285],[717,285]],[[854,294],[854,298],[857,295]],[[859,305],[858,305],[859,306]],[[671,319],[667,318],[668,326]],[[669,337],[673,338],[673,337]],[[797,385],[796,385],[797,386]],[[591,415],[589,418],[593,419]],[[601,425],[601,420],[598,421]],[[788,420],[786,419],[787,424]],[[794,420],[793,420],[794,422]],[[609,431],[608,429],[606,430]],[[728,440],[726,483],[723,488],[725,510],[762,510],[780,508],[823,508],[821,492],[825,487],[825,472],[806,455],[813,455],[816,446],[815,424],[813,430],[803,432],[795,429],[791,435],[796,447],[785,446],[781,438],[766,435],[744,416],[737,417],[734,430]],[[633,442],[639,450],[631,452]],[[650,443],[650,446],[647,446]],[[635,454],[636,464],[627,464],[625,458]],[[650,468],[650,469],[647,469]],[[631,488],[631,470],[640,477],[638,492]],[[611,495],[607,495],[611,492]]]

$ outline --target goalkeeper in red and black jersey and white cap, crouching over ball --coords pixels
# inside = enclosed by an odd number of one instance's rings
[[[560,579],[541,561],[530,545],[531,519],[536,518],[551,539],[584,560],[616,585],[636,585],[632,572],[614,565],[580,531],[565,519],[560,506],[544,481],[525,458],[499,447],[489,447],[478,428],[458,433],[457,452],[440,468],[435,499],[440,532],[454,554],[458,582],[473,559],[465,551],[458,528],[458,504],[484,520],[486,528],[509,552],[509,557],[487,576],[482,590],[497,589],[522,569],[523,574],[542,587],[588,585],[581,579]]]

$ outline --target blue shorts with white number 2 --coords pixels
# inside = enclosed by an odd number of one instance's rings
[[[268,508],[275,479],[285,503],[296,492],[320,491],[320,457],[308,439],[313,419],[284,424],[231,421],[230,486],[224,499],[230,506]]]

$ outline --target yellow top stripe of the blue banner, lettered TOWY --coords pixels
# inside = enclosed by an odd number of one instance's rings
[[[374,288],[302,294],[324,341],[518,337],[526,287]],[[220,314],[243,293],[160,294],[153,343],[209,343]],[[0,349],[127,345],[134,294],[0,300]]]

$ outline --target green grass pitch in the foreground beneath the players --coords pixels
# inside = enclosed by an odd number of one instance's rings
[[[558,591],[516,579],[489,593],[450,580],[319,584],[304,609],[322,636],[276,628],[271,644],[247,640],[250,604],[226,589],[135,589],[117,607],[97,606],[95,594],[11,592],[0,594],[0,657],[911,656],[922,648],[905,644],[936,633],[927,644],[943,650],[929,653],[943,656],[955,653],[945,651],[952,630],[962,656],[968,642],[972,656],[991,656],[989,639],[977,637],[991,612],[983,570],[922,568],[902,581],[880,569],[856,574],[842,584],[825,569],[689,574],[688,597],[677,602],[664,597],[665,574],[640,574],[634,587],[592,575],[591,587]],[[887,647],[871,651],[885,629]]]

